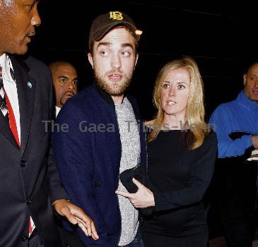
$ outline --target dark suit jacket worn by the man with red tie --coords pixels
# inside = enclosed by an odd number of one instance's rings
[[[52,202],[68,198],[49,155],[52,77],[47,66],[11,56],[20,108],[20,147],[0,114],[0,246],[28,246],[32,215],[45,246],[61,246]]]

